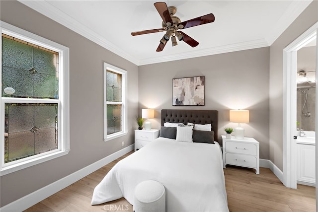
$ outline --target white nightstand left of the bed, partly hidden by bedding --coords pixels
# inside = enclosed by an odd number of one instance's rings
[[[159,137],[159,130],[135,130],[135,151]]]

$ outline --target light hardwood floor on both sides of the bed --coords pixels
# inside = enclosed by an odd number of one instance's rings
[[[32,206],[25,212],[132,212],[124,198],[91,206],[95,186],[122,158],[87,175],[78,182]],[[227,166],[224,169],[230,212],[316,212],[315,187],[298,185],[286,188],[267,168],[253,169]]]

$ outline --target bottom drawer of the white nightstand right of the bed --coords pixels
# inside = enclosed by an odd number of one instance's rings
[[[225,162],[244,167],[257,167],[257,158],[252,155],[226,153]]]

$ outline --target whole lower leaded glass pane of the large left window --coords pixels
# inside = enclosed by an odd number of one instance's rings
[[[57,106],[5,103],[5,163],[58,148]]]

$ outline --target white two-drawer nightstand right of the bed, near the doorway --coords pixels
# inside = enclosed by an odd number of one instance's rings
[[[226,139],[223,141],[223,167],[227,164],[253,168],[259,174],[259,142],[253,138]]]

